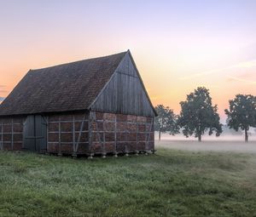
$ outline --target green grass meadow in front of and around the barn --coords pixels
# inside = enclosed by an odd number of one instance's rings
[[[256,216],[256,156],[0,152],[0,216]]]

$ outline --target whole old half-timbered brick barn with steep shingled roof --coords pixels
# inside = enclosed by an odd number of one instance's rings
[[[0,105],[0,149],[147,153],[155,116],[129,50],[30,70]]]

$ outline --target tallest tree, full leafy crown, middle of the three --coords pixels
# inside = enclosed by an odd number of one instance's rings
[[[186,137],[195,134],[201,141],[201,136],[209,130],[209,135],[222,133],[222,124],[219,123],[218,107],[212,106],[209,90],[201,87],[187,95],[187,100],[180,102],[181,112],[177,124],[183,128]]]

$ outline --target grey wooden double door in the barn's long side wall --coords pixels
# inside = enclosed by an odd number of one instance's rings
[[[47,123],[40,115],[26,117],[24,123],[24,149],[45,152],[47,146]]]

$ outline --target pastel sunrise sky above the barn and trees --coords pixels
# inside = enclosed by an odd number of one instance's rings
[[[176,113],[199,86],[224,121],[256,94],[254,0],[0,0],[0,100],[29,69],[127,49],[154,104]]]

